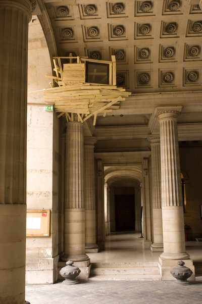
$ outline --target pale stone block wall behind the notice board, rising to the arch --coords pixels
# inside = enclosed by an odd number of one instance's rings
[[[33,22],[32,22],[33,21]],[[29,24],[28,92],[48,88],[51,58],[36,16]],[[57,280],[59,259],[59,120],[45,111],[43,94],[28,93],[27,114],[27,209],[51,210],[50,236],[27,237],[26,283]],[[60,220],[61,222],[61,220]],[[54,231],[54,233],[53,233]]]

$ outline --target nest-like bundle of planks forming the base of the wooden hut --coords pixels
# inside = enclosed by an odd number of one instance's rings
[[[54,105],[54,110],[60,112],[58,116],[66,114],[68,121],[72,120],[70,113],[79,114],[81,122],[94,115],[114,109],[119,109],[119,102],[131,93],[114,85],[95,85],[90,83],[65,85],[44,90],[44,102]]]

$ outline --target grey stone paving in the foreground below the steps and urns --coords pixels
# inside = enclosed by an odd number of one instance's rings
[[[180,285],[175,281],[81,281],[76,285],[28,285],[26,300],[31,304],[201,304],[202,282]]]

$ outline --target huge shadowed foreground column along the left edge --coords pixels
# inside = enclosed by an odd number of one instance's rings
[[[0,1],[0,293],[25,302],[29,0]]]

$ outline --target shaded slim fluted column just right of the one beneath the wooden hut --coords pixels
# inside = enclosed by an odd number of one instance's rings
[[[94,144],[96,137],[84,137],[85,156],[85,252],[98,252],[95,223]]]

